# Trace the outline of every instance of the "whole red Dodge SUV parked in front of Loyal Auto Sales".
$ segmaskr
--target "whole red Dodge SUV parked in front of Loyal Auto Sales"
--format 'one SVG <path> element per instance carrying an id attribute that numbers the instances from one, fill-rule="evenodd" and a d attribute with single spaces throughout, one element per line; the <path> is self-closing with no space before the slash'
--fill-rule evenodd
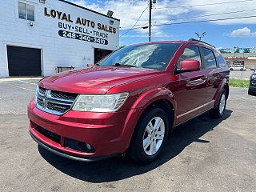
<path id="1" fill-rule="evenodd" d="M 126 46 L 90 68 L 38 82 L 28 106 L 30 134 L 66 158 L 127 154 L 151 162 L 174 127 L 206 111 L 222 117 L 229 75 L 222 55 L 205 42 Z"/>

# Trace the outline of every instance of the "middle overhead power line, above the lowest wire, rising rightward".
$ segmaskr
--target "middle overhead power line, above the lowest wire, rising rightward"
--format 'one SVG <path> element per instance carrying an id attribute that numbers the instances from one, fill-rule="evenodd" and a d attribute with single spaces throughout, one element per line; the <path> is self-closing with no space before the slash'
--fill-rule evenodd
<path id="1" fill-rule="evenodd" d="M 252 9 L 252 10 L 256 10 L 256 9 Z M 252 11 L 252 10 L 237 10 L 237 11 L 231 11 L 231 12 L 219 13 L 219 14 L 192 14 L 192 15 L 190 15 L 190 17 L 186 17 L 186 18 L 203 18 L 203 17 L 209 17 L 209 16 L 214 16 L 214 15 L 220 15 L 220 14 L 237 14 L 237 13 L 242 13 L 242 12 L 247 12 L 247 11 Z M 170 19 L 166 23 L 169 23 L 171 21 L 186 19 L 186 18 L 174 18 L 174 19 Z M 154 21 L 154 22 L 158 22 L 158 21 Z M 166 24 L 166 23 L 164 23 L 164 24 Z M 148 24 L 148 22 L 146 22 L 144 24 L 135 25 L 135 26 L 145 26 L 146 24 Z M 162 24 L 162 23 L 160 23 L 160 24 Z M 131 27 L 131 26 L 123 26 L 120 28 L 121 28 L 121 30 L 128 30 L 128 29 L 124 29 L 124 28 L 128 28 L 128 27 Z"/>

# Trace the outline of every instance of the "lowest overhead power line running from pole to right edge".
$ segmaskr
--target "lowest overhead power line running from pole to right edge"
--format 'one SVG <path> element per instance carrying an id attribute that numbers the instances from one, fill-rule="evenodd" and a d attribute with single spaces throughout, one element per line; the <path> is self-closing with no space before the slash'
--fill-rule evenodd
<path id="1" fill-rule="evenodd" d="M 234 19 L 240 19 L 240 18 L 256 18 L 256 15 L 236 17 L 236 18 L 217 18 L 217 19 L 191 21 L 191 22 L 172 22 L 172 23 L 156 24 L 156 25 L 152 25 L 152 26 L 170 26 L 170 25 L 189 24 L 189 23 L 198 23 L 198 22 L 217 22 L 217 21 L 234 20 Z M 138 29 L 142 29 L 142 27 L 135 27 L 132 30 L 138 30 Z M 131 30 L 131 29 L 129 29 L 129 30 Z"/>

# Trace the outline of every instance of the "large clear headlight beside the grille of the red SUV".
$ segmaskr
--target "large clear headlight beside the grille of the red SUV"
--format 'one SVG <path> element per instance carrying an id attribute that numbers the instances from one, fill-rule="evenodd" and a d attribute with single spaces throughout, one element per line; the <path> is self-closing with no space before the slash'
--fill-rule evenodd
<path id="1" fill-rule="evenodd" d="M 128 93 L 120 94 L 80 94 L 72 110 L 91 112 L 113 112 L 126 101 Z"/>

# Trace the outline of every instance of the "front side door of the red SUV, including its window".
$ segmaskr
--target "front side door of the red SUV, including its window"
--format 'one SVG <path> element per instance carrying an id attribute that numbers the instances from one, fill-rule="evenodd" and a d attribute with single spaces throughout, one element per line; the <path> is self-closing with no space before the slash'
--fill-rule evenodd
<path id="1" fill-rule="evenodd" d="M 196 59 L 201 63 L 201 70 L 177 74 L 178 81 L 174 82 L 172 91 L 177 102 L 176 124 L 185 122 L 205 110 L 207 99 L 206 71 L 202 70 L 202 56 L 198 46 L 188 46 L 176 64 L 179 69 L 184 59 Z"/>

